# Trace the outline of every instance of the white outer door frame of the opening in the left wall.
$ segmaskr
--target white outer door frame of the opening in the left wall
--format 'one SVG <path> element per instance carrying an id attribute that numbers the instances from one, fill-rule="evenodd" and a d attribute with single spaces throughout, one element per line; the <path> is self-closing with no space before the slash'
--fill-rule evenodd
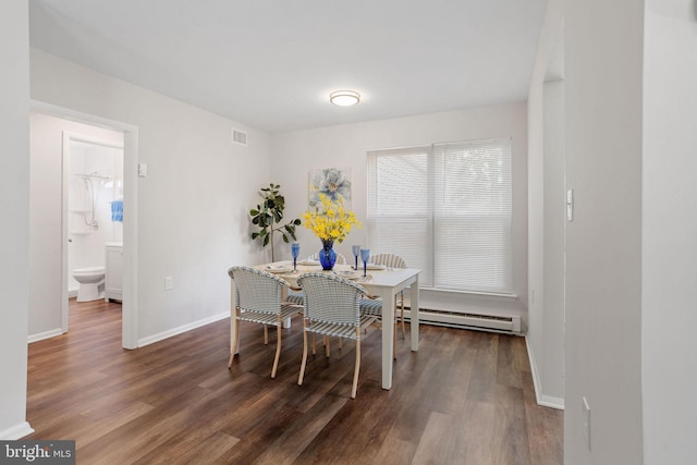
<path id="1" fill-rule="evenodd" d="M 123 348 L 138 347 L 138 126 L 121 121 L 109 120 L 94 114 L 83 113 L 69 108 L 30 100 L 30 110 L 91 126 L 123 132 L 123 301 L 121 321 L 121 344 Z M 65 140 L 65 138 L 63 139 Z M 63 188 L 63 191 L 65 191 Z M 63 196 L 66 196 L 64 192 Z M 63 235 L 63 268 L 68 267 L 68 235 L 65 221 Z M 68 276 L 62 282 L 61 327 L 68 329 Z M 64 297 L 64 298 L 63 298 Z M 63 320 L 63 318 L 65 318 Z"/>

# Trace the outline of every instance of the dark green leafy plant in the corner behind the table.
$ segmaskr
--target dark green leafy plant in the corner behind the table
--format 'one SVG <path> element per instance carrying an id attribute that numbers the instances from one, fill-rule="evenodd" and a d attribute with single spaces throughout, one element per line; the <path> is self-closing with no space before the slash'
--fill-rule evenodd
<path id="1" fill-rule="evenodd" d="M 252 223 L 259 228 L 259 231 L 252 233 L 252 240 L 261 240 L 262 246 L 271 244 L 271 261 L 276 261 L 273 253 L 273 233 L 282 234 L 283 242 L 289 243 L 289 236 L 295 240 L 295 227 L 301 224 L 299 218 L 283 222 L 283 209 L 285 208 L 285 197 L 280 194 L 281 186 L 278 184 L 269 184 L 268 187 L 261 187 L 261 197 L 264 201 L 256 208 L 249 210 Z"/>

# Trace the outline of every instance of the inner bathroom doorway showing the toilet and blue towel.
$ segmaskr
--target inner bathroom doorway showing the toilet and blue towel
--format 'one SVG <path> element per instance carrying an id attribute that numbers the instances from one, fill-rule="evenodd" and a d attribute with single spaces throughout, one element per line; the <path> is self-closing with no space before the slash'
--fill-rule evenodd
<path id="1" fill-rule="evenodd" d="M 119 139 L 63 132 L 61 331 L 69 330 L 70 305 L 122 292 L 123 133 Z M 117 262 L 118 261 L 118 262 Z M 96 283 L 78 283 L 75 270 Z M 89 271 L 91 270 L 91 272 Z M 84 279 L 84 278 L 81 278 Z M 109 285 L 109 292 L 106 292 Z M 118 291 L 118 294 L 117 292 Z"/>

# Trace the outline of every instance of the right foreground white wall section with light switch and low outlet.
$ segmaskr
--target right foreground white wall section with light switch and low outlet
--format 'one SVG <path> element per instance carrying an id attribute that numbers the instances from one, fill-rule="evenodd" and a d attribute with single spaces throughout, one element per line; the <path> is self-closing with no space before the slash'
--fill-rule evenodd
<path id="1" fill-rule="evenodd" d="M 641 464 L 644 4 L 567 0 L 564 8 L 566 185 L 575 189 L 566 227 L 564 463 Z"/>

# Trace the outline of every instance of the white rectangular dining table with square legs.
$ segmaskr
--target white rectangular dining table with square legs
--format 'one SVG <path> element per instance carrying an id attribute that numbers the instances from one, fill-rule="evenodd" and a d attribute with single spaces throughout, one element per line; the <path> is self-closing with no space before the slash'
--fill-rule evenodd
<path id="1" fill-rule="evenodd" d="M 265 264 L 259 265 L 256 268 L 265 270 L 265 271 L 273 271 L 277 276 L 280 276 L 283 279 L 286 279 L 291 285 L 294 285 L 293 277 L 299 277 L 302 273 L 306 272 L 315 272 L 321 271 L 320 267 L 317 266 L 297 266 L 297 273 L 279 273 L 279 269 L 284 267 L 288 262 L 276 262 L 276 264 Z M 292 269 L 292 265 L 290 266 Z M 348 265 L 337 265 L 334 266 L 334 271 L 340 276 L 344 274 L 342 272 L 352 270 L 352 267 Z M 384 269 L 369 269 L 367 271 L 368 279 L 363 279 L 358 277 L 355 279 L 355 282 L 364 286 L 371 297 L 379 297 L 382 299 L 382 320 L 383 321 L 393 321 L 394 313 L 396 311 L 394 307 L 394 296 L 400 293 L 400 291 L 406 290 L 408 287 L 408 296 L 409 296 L 409 320 L 411 320 L 411 342 L 412 342 L 412 351 L 418 351 L 418 276 L 421 272 L 419 269 L 415 268 L 384 268 Z M 357 273 L 362 274 L 363 270 L 360 269 Z M 230 346 L 232 347 L 232 338 L 235 333 L 235 328 L 237 325 L 236 319 L 234 318 L 234 306 L 235 306 L 235 283 L 234 280 L 230 280 L 230 295 L 231 295 L 231 307 L 230 307 Z M 393 366 L 393 338 L 394 338 L 394 325 L 382 325 L 382 389 L 391 389 L 392 388 L 392 366 Z"/>

